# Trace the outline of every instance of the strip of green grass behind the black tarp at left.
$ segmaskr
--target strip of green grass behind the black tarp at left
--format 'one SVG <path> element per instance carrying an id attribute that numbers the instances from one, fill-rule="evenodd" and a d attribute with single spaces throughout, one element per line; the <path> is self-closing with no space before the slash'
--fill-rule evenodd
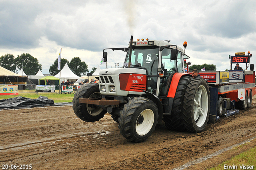
<path id="1" fill-rule="evenodd" d="M 39 96 L 46 96 L 48 99 L 54 100 L 54 103 L 60 103 L 60 102 L 72 102 L 74 98 L 74 93 L 71 94 L 56 94 L 56 93 L 20 93 L 18 95 L 1 95 L 0 100 L 2 99 L 8 99 L 8 98 L 14 98 L 17 96 L 22 96 L 26 98 L 31 99 L 37 99 Z"/>

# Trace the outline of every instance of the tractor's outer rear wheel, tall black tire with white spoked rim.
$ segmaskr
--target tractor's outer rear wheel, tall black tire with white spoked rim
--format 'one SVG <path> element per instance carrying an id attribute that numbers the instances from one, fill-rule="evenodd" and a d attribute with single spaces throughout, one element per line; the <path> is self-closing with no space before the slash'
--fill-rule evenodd
<path id="1" fill-rule="evenodd" d="M 193 79 L 188 83 L 183 100 L 183 123 L 188 132 L 205 129 L 210 113 L 210 92 L 204 79 Z"/>

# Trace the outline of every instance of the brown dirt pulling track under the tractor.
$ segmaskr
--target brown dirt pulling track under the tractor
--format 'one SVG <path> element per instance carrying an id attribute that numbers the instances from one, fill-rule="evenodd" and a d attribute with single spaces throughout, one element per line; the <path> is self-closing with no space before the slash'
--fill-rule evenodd
<path id="1" fill-rule="evenodd" d="M 0 111 L 0 163 L 31 164 L 34 170 L 168 170 L 256 136 L 256 98 L 249 110 L 220 118 L 198 134 L 156 127 L 142 143 L 131 143 L 106 114 L 83 122 L 72 106 Z M 256 140 L 188 167 L 206 169 L 256 146 Z"/>

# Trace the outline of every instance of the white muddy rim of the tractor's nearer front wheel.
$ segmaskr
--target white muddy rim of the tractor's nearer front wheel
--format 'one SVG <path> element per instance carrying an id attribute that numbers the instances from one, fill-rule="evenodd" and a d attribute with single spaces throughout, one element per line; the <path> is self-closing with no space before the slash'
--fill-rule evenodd
<path id="1" fill-rule="evenodd" d="M 154 124 L 154 112 L 151 109 L 143 110 L 136 120 L 136 132 L 143 136 L 147 134 Z"/>

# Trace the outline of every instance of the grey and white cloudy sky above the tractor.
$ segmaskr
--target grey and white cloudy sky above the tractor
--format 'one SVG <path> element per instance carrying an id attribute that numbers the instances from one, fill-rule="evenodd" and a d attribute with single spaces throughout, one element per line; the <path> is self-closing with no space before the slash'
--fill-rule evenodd
<path id="1" fill-rule="evenodd" d="M 44 74 L 60 48 L 62 58 L 79 57 L 91 70 L 103 48 L 127 47 L 131 34 L 179 46 L 187 41 L 192 64 L 226 70 L 228 55 L 250 51 L 256 66 L 256 1 L 0 0 L 0 56 L 29 53 Z M 111 52 L 108 68 L 124 56 Z"/>

